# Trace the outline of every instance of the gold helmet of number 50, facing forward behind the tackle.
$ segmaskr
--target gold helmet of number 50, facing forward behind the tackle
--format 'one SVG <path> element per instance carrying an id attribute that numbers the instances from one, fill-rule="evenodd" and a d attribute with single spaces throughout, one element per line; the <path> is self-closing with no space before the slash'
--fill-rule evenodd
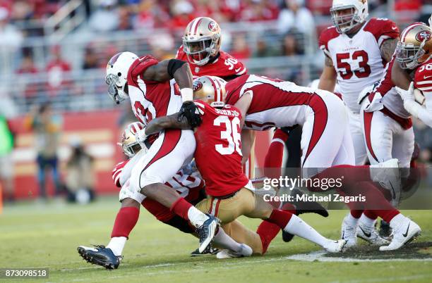
<path id="1" fill-rule="evenodd" d="M 189 61 L 205 65 L 220 49 L 220 27 L 208 17 L 195 18 L 188 23 L 183 36 L 183 49 Z"/>

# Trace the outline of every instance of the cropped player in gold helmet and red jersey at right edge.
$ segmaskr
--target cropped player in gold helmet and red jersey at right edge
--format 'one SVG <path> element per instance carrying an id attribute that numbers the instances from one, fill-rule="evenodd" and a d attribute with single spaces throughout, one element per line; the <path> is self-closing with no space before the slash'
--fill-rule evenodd
<path id="1" fill-rule="evenodd" d="M 423 23 L 414 23 L 407 27 L 397 44 L 396 60 L 398 67 L 414 74 L 413 82 L 407 80 L 409 87 L 403 85 L 403 80 L 395 82 L 397 92 L 403 99 L 403 105 L 415 118 L 419 118 L 432 127 L 432 29 Z M 396 65 L 396 64 L 395 64 Z M 395 68 L 397 71 L 397 67 Z M 407 90 L 405 90 L 407 89 Z M 415 89 L 415 91 L 414 91 Z M 415 95 L 416 92 L 417 96 Z M 416 97 L 424 97 L 419 101 Z M 421 103 L 419 103 L 421 102 Z"/>

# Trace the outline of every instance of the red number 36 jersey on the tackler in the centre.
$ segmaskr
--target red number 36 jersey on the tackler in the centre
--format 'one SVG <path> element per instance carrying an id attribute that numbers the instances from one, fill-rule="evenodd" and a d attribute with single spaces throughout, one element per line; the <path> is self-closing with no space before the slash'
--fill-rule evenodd
<path id="1" fill-rule="evenodd" d="M 245 187 L 249 180 L 241 165 L 239 109 L 212 108 L 194 101 L 203 111 L 203 124 L 196 129 L 195 161 L 210 196 L 226 196 Z"/>

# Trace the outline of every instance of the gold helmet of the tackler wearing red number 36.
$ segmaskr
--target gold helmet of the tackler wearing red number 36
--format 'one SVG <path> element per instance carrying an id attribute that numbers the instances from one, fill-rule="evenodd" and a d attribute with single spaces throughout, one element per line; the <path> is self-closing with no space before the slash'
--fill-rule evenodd
<path id="1" fill-rule="evenodd" d="M 212 107 L 224 107 L 225 82 L 220 77 L 205 75 L 193 81 L 193 99 L 200 99 Z"/>

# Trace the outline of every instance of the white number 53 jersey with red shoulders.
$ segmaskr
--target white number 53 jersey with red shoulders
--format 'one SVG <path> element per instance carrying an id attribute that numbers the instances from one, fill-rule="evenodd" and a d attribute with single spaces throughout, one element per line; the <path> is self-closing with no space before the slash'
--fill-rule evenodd
<path id="1" fill-rule="evenodd" d="M 385 61 L 380 46 L 387 39 L 399 37 L 395 23 L 385 18 L 371 18 L 350 38 L 328 27 L 320 34 L 319 46 L 332 59 L 342 100 L 354 113 L 359 113 L 357 97 L 384 74 Z"/>

